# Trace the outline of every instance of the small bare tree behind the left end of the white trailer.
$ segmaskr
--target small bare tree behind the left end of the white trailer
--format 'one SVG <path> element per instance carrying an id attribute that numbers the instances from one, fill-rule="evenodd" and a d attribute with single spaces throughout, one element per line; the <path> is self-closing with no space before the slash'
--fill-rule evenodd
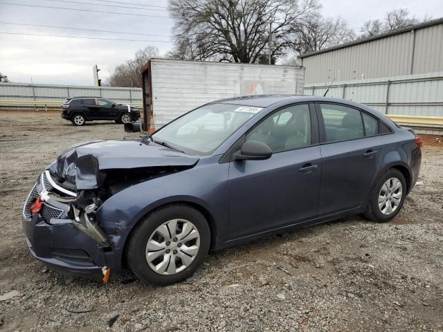
<path id="1" fill-rule="evenodd" d="M 141 88 L 141 71 L 147 60 L 152 57 L 160 57 L 159 48 L 147 46 L 138 50 L 134 59 L 130 59 L 124 64 L 112 68 L 108 84 L 111 86 L 134 86 Z"/>

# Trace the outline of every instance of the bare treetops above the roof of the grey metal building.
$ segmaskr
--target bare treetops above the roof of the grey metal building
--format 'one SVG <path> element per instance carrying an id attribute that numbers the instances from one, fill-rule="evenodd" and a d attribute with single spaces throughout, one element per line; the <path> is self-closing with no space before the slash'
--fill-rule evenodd
<path id="1" fill-rule="evenodd" d="M 374 19 L 365 21 L 361 26 L 361 37 L 371 37 L 379 35 L 380 33 L 387 33 L 388 31 L 397 30 L 399 28 L 405 28 L 406 26 L 412 26 L 413 24 L 419 24 L 420 21 L 429 21 L 431 17 L 425 16 L 422 20 L 417 17 L 409 16 L 409 11 L 406 8 L 399 8 L 386 12 L 383 20 Z"/>

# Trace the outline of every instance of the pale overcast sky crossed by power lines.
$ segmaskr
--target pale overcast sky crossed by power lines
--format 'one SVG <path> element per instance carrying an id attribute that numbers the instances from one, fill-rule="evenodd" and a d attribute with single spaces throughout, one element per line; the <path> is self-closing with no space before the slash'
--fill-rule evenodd
<path id="1" fill-rule="evenodd" d="M 381 19 L 387 11 L 397 8 L 407 8 L 418 18 L 425 15 L 433 19 L 443 17 L 442 0 L 320 0 L 320 3 L 324 16 L 341 16 L 356 32 L 364 21 Z M 97 64 L 101 69 L 100 78 L 106 81 L 111 69 L 132 58 L 136 50 L 154 45 L 161 53 L 166 53 L 172 48 L 174 22 L 165 8 L 167 5 L 167 0 L 0 0 L 0 73 L 8 75 L 12 82 L 30 83 L 32 77 L 34 83 L 93 85 L 92 68 Z M 109 30 L 113 33 L 17 24 Z M 21 33 L 34 35 L 15 35 Z"/>

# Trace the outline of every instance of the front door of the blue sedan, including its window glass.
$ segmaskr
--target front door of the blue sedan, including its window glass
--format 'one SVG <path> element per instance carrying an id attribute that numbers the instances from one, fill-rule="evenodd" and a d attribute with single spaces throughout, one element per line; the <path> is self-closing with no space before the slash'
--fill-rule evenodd
<path id="1" fill-rule="evenodd" d="M 230 239 L 314 218 L 322 167 L 314 107 L 295 104 L 275 111 L 244 140 L 266 143 L 273 155 L 230 162 Z"/>

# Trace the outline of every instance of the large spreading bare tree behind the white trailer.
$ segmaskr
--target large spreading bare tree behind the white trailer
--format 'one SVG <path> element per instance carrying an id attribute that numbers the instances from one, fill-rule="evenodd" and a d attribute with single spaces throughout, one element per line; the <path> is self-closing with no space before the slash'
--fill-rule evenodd
<path id="1" fill-rule="evenodd" d="M 176 49 L 193 59 L 257 63 L 291 48 L 293 26 L 314 15 L 317 0 L 170 0 Z"/>

